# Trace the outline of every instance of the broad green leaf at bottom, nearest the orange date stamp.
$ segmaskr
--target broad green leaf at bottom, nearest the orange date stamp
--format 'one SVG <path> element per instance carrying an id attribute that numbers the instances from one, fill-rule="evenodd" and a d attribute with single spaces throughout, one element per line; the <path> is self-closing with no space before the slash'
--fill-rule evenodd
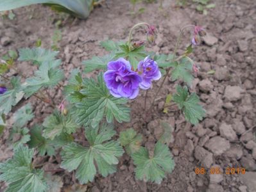
<path id="1" fill-rule="evenodd" d="M 154 156 L 149 157 L 145 147 L 132 154 L 133 163 L 136 165 L 135 177 L 139 180 L 151 181 L 160 184 L 165 173 L 171 173 L 175 167 L 171 152 L 167 145 L 157 142 Z"/>

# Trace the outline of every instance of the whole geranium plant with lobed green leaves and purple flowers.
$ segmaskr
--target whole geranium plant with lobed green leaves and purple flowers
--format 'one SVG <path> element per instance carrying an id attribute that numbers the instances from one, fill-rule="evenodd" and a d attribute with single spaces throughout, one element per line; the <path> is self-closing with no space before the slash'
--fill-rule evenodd
<path id="1" fill-rule="evenodd" d="M 35 164 L 33 156 L 56 156 L 58 148 L 61 148 L 62 163 L 60 169 L 53 172 L 74 170 L 80 184 L 92 182 L 96 173 L 107 177 L 116 172 L 119 157 L 124 152 L 133 159 L 136 179 L 160 183 L 166 173 L 173 171 L 175 162 L 168 147 L 173 128 L 169 124 L 161 123 L 164 134 L 154 148 L 146 148 L 142 147 L 142 135 L 132 127 L 120 132 L 119 138 L 114 139 L 117 134 L 115 122 L 130 122 L 128 100 L 136 99 L 143 90 L 149 92 L 154 81 L 162 81 L 154 90 L 151 106 L 146 109 L 152 111 L 154 101 L 169 75 L 173 81 L 180 79 L 187 86 L 176 86 L 176 93 L 172 99 L 167 97 L 168 102 L 172 100 L 176 103 L 191 124 L 198 124 L 202 120 L 205 110 L 199 104 L 199 97 L 189 92 L 192 74 L 198 72 L 189 55 L 194 45 L 199 44 L 200 36 L 205 35 L 205 30 L 198 26 L 185 26 L 180 31 L 175 51 L 159 55 L 147 52 L 146 42 L 132 41 L 133 32 L 141 27 L 146 29 L 147 42 L 153 44 L 157 29 L 145 22 L 133 26 L 128 42 L 101 42 L 110 54 L 94 56 L 91 60 L 83 61 L 83 65 L 85 73 L 93 70 L 102 72 L 96 79 L 84 78 L 80 70 L 74 69 L 69 83 L 63 88 L 64 96 L 59 104 L 46 96 L 46 89 L 61 88 L 60 82 L 64 79 L 64 72 L 60 69 L 62 61 L 56 59 L 57 51 L 40 47 L 25 48 L 19 49 L 19 58 L 15 52 L 4 56 L 0 68 L 0 130 L 6 126 L 5 116 L 12 107 L 24 103 L 25 99 L 36 97 L 53 108 L 42 125 L 28 125 L 33 118 L 38 118 L 33 114 L 30 103 L 14 113 L 9 140 L 14 148 L 14 156 L 0 164 L 0 179 L 9 184 L 6 191 L 50 190 L 56 178 L 46 174 L 52 170 L 45 170 L 44 164 Z M 187 28 L 193 30 L 191 44 L 183 54 L 177 56 L 183 31 Z M 31 65 L 36 65 L 34 76 L 21 74 L 15 67 L 17 61 L 30 61 Z M 9 79 L 6 73 L 11 68 L 17 70 L 19 76 Z M 76 132 L 84 133 L 82 136 L 80 134 L 82 139 L 75 137 Z M 61 184 L 55 186 L 62 187 Z"/>

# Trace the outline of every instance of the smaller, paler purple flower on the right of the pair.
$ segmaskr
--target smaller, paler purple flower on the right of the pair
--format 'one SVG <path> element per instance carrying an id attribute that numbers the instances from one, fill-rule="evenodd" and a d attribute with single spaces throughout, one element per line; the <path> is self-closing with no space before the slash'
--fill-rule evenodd
<path id="1" fill-rule="evenodd" d="M 149 58 L 149 56 L 139 62 L 138 73 L 142 77 L 142 82 L 139 86 L 143 90 L 148 90 L 151 86 L 151 81 L 158 80 L 162 76 L 158 69 L 157 62 Z"/>

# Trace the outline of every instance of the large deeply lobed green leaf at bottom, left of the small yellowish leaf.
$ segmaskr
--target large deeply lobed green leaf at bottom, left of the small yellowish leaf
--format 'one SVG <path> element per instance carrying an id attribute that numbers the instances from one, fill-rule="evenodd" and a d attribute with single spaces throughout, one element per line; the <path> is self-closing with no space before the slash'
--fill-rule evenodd
<path id="1" fill-rule="evenodd" d="M 61 167 L 69 172 L 76 170 L 76 178 L 81 184 L 92 182 L 98 172 L 107 177 L 114 173 L 115 165 L 118 163 L 117 157 L 122 156 L 123 148 L 117 141 L 108 141 L 114 136 L 114 127 L 103 125 L 100 128 L 87 127 L 85 137 L 90 143 L 90 147 L 83 147 L 77 143 L 65 145 L 62 150 Z"/>

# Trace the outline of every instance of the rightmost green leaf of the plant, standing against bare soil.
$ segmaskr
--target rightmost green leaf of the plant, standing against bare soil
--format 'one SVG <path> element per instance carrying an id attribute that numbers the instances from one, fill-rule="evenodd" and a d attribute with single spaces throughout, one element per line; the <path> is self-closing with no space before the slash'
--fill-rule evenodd
<path id="1" fill-rule="evenodd" d="M 187 87 L 178 85 L 176 87 L 177 93 L 173 95 L 173 101 L 178 104 L 178 107 L 182 109 L 185 119 L 191 122 L 191 124 L 198 124 L 199 120 L 202 120 L 205 116 L 205 109 L 200 104 L 200 99 L 196 93 L 189 95 Z"/>

